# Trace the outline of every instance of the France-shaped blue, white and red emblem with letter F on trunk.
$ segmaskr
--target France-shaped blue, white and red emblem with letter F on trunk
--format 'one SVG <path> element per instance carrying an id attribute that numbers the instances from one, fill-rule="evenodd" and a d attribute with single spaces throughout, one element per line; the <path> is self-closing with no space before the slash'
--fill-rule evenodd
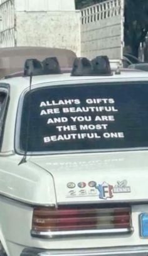
<path id="1" fill-rule="evenodd" d="M 110 184 L 107 184 L 107 182 L 98 184 L 98 186 L 96 186 L 96 189 L 98 189 L 100 199 L 107 199 L 113 197 L 114 187 Z"/>

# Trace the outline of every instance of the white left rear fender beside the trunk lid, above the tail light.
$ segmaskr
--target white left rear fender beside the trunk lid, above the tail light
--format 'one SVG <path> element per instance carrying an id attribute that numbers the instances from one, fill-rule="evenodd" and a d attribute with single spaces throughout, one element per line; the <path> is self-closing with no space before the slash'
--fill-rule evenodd
<path id="1" fill-rule="evenodd" d="M 6 157 L 1 157 L 1 195 L 26 204 L 55 205 L 53 177 L 48 172 L 31 162 L 19 165 L 22 157 L 12 155 L 7 158 L 6 165 Z"/>

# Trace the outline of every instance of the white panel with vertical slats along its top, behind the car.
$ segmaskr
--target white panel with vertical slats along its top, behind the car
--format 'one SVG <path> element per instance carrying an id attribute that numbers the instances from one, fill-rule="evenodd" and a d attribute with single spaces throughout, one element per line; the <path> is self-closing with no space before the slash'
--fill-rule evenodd
<path id="1" fill-rule="evenodd" d="M 82 10 L 81 55 L 122 58 L 124 0 L 108 0 Z"/>

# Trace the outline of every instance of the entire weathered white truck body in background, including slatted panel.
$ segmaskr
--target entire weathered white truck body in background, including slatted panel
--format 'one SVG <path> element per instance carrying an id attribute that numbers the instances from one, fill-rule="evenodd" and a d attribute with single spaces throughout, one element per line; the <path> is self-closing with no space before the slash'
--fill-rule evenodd
<path id="1" fill-rule="evenodd" d="M 68 48 L 88 58 L 122 58 L 124 0 L 75 11 L 75 0 L 0 0 L 0 47 Z"/>

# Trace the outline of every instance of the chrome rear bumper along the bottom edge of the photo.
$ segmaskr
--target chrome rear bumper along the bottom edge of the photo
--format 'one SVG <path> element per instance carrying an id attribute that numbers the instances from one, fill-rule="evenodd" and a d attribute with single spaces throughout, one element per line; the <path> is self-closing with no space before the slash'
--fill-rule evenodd
<path id="1" fill-rule="evenodd" d="M 25 248 L 21 256 L 148 256 L 148 245 L 131 246 L 131 247 L 107 247 L 107 248 L 90 248 L 78 250 L 41 250 L 35 248 Z"/>

